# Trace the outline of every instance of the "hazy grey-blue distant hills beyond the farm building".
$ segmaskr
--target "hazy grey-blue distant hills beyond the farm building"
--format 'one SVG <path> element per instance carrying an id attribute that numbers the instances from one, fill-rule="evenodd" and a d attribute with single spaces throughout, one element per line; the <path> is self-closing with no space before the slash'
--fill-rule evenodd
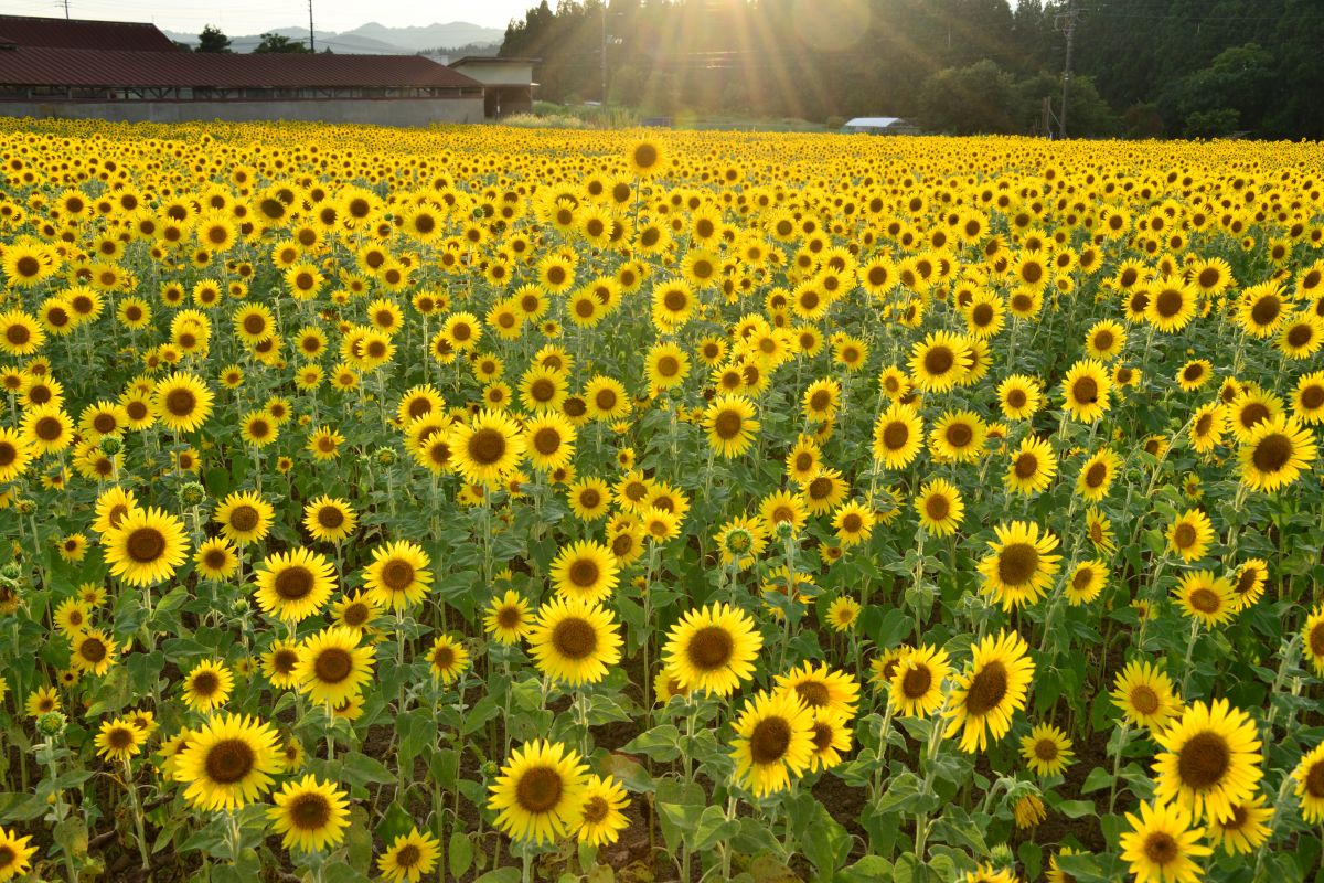
<path id="1" fill-rule="evenodd" d="M 306 41 L 308 37 L 307 28 L 275 28 L 273 33 L 291 40 Z M 451 46 L 463 48 L 466 52 L 461 54 L 479 54 L 478 52 L 473 52 L 473 49 L 479 46 L 500 46 L 506 32 L 496 28 L 483 28 L 467 21 L 410 28 L 387 28 L 385 25 L 369 21 L 354 30 L 318 30 L 315 34 L 319 52 L 330 48 L 331 52 L 350 56 L 413 56 L 420 52 L 436 52 L 438 48 L 445 53 Z M 166 36 L 189 46 L 197 45 L 197 34 L 167 30 Z M 229 37 L 234 52 L 253 52 L 262 42 L 261 34 L 229 34 Z"/>

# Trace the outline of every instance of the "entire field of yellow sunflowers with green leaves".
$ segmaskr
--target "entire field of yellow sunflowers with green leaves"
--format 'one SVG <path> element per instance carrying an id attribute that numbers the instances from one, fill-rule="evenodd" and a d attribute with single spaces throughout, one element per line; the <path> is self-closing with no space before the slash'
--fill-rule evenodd
<path id="1" fill-rule="evenodd" d="M 1324 880 L 1319 146 L 0 159 L 0 882 Z"/>

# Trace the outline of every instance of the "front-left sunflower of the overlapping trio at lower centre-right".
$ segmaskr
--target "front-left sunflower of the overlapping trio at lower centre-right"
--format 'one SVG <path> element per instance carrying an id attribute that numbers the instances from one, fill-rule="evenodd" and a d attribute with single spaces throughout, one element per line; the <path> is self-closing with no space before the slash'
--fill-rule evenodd
<path id="1" fill-rule="evenodd" d="M 748 699 L 735 723 L 735 780 L 764 797 L 786 790 L 814 757 L 814 714 L 794 692 Z"/>

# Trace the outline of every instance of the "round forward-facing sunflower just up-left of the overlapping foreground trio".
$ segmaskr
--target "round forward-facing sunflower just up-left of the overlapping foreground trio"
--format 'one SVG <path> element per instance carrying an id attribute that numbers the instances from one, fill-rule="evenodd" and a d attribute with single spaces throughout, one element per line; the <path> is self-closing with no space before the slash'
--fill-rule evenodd
<path id="1" fill-rule="evenodd" d="M 686 691 L 730 696 L 753 676 L 763 635 L 749 614 L 727 604 L 690 610 L 667 635 L 662 658 Z"/>

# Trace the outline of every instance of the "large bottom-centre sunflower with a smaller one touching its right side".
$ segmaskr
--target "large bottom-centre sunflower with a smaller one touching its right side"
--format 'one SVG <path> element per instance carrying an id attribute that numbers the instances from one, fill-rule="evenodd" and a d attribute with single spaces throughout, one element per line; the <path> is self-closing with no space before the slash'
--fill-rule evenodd
<path id="1" fill-rule="evenodd" d="M 576 830 L 588 785 L 577 752 L 542 739 L 511 752 L 490 786 L 496 826 L 516 841 L 556 841 Z"/>

